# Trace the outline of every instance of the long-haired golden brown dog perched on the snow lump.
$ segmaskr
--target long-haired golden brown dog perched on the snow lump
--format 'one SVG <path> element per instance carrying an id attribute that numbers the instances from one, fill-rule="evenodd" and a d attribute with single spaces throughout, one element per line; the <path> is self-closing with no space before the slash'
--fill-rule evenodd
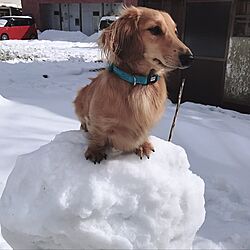
<path id="1" fill-rule="evenodd" d="M 167 97 L 163 74 L 192 60 L 176 33 L 167 13 L 143 7 L 124 9 L 104 30 L 99 44 L 110 64 L 131 76 L 157 74 L 160 79 L 134 85 L 106 69 L 79 91 L 74 104 L 82 128 L 89 132 L 86 159 L 100 163 L 108 146 L 149 158 L 154 148 L 148 132 L 160 119 Z"/>

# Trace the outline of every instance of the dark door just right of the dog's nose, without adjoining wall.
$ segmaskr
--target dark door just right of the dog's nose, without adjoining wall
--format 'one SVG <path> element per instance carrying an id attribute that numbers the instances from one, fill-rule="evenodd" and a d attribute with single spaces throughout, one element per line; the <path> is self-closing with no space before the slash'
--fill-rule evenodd
<path id="1" fill-rule="evenodd" d="M 232 1 L 186 1 L 184 42 L 195 60 L 184 73 L 183 101 L 222 104 L 231 10 Z"/>

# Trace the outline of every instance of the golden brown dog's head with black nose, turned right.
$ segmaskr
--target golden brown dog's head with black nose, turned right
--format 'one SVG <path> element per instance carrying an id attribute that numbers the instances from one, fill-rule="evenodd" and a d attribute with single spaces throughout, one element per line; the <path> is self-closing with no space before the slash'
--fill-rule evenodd
<path id="1" fill-rule="evenodd" d="M 193 59 L 170 15 L 144 7 L 125 8 L 99 44 L 109 62 L 145 61 L 155 70 L 186 68 Z"/>

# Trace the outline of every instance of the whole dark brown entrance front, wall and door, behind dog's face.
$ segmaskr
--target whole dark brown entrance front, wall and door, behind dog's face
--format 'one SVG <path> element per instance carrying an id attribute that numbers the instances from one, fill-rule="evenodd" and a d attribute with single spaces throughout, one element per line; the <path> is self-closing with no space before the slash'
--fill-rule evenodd
<path id="1" fill-rule="evenodd" d="M 233 0 L 141 0 L 162 9 L 177 23 L 180 38 L 195 56 L 192 67 L 168 77 L 169 97 L 177 101 L 181 78 L 186 78 L 183 101 L 221 106 L 233 19 Z"/>

